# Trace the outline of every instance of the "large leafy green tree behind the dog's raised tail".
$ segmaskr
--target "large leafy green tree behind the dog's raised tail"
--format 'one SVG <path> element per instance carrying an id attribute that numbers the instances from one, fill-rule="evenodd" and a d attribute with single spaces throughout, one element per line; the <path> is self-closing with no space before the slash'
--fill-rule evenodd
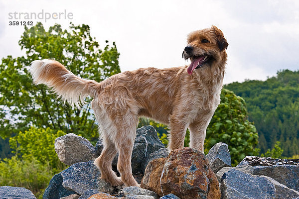
<path id="1" fill-rule="evenodd" d="M 37 59 L 54 59 L 81 78 L 100 82 L 120 72 L 116 45 L 106 43 L 101 50 L 84 24 L 71 23 L 68 30 L 55 24 L 48 31 L 41 23 L 25 26 L 19 45 L 26 56 L 7 56 L 0 64 L 0 136 L 10 137 L 35 125 L 73 132 L 96 142 L 98 133 L 90 103 L 82 109 L 61 104 L 46 86 L 32 85 L 28 67 Z"/>

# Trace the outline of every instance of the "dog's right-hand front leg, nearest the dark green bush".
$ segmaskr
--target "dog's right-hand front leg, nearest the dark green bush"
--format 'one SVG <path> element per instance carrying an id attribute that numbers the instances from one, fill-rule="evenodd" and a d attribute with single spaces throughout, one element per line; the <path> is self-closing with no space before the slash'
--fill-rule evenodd
<path id="1" fill-rule="evenodd" d="M 210 123 L 213 113 L 208 113 L 189 125 L 190 131 L 190 148 L 203 152 L 203 144 L 206 136 L 206 129 Z"/>

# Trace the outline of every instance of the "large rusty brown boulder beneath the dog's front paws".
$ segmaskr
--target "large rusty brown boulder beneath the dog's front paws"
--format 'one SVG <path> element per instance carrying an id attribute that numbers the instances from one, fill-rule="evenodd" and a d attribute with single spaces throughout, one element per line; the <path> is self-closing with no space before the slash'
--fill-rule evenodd
<path id="1" fill-rule="evenodd" d="M 170 152 L 167 158 L 152 160 L 141 187 L 159 196 L 174 194 L 181 199 L 220 199 L 219 183 L 207 158 L 187 147 Z"/>

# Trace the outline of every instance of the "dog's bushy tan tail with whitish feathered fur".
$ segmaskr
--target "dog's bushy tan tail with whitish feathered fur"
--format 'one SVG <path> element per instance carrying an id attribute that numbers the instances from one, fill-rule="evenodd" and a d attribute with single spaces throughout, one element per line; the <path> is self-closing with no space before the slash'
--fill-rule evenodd
<path id="1" fill-rule="evenodd" d="M 82 79 L 54 60 L 33 61 L 29 71 L 35 85 L 45 84 L 51 87 L 64 102 L 78 108 L 85 103 L 85 97 L 96 97 L 99 93 L 100 83 Z"/>

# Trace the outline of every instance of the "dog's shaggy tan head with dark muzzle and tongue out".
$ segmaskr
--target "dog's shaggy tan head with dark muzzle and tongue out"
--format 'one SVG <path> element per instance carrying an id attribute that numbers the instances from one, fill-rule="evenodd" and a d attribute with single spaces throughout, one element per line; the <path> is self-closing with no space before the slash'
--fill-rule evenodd
<path id="1" fill-rule="evenodd" d="M 228 43 L 222 31 L 216 26 L 191 32 L 187 43 L 182 56 L 186 61 L 191 60 L 187 69 L 189 75 L 194 69 L 212 67 L 220 63 L 223 58 L 226 59 L 225 50 Z"/>

